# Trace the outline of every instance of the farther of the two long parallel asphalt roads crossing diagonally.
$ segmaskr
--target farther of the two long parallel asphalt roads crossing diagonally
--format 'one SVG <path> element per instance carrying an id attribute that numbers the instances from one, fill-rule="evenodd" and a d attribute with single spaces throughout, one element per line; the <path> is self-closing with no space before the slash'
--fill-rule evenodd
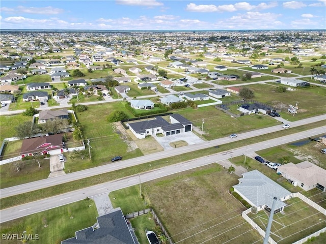
<path id="1" fill-rule="evenodd" d="M 315 117 L 311 117 L 311 118 L 297 120 L 297 121 L 291 122 L 289 124 L 291 125 L 291 127 L 296 127 L 296 126 L 302 126 L 305 124 L 313 123 L 313 122 L 324 120 L 324 119 L 326 119 L 326 115 L 319 115 L 319 116 L 315 116 Z M 94 168 L 90 168 L 90 169 L 86 169 L 86 170 L 80 170 L 77 172 L 68 173 L 65 175 L 57 176 L 57 177 L 33 181 L 33 182 L 30 182 L 27 184 L 1 189 L 0 190 L 0 198 L 5 198 L 5 197 L 25 193 L 25 192 L 35 191 L 38 189 L 63 184 L 63 183 L 73 181 L 73 180 L 78 180 L 78 179 L 82 179 L 82 178 L 86 178 L 86 177 L 90 177 L 90 176 L 94 176 L 94 175 L 98 175 L 98 174 L 102 174 L 102 173 L 106 173 L 106 172 L 111 172 L 111 171 L 131 167 L 131 166 L 135 166 L 135 165 L 139 165 L 139 164 L 144 164 L 144 163 L 159 160 L 159 159 L 165 159 L 168 157 L 185 154 L 185 153 L 199 150 L 199 149 L 222 145 L 222 144 L 247 139 L 250 137 L 256 137 L 256 136 L 268 134 L 271 132 L 281 131 L 281 130 L 286 130 L 286 129 L 283 129 L 282 124 L 280 123 L 280 125 L 277 125 L 277 126 L 267 127 L 267 128 L 263 128 L 263 129 L 259 129 L 259 130 L 255 130 L 255 131 L 238 134 L 238 137 L 236 137 L 236 138 L 229 138 L 229 137 L 219 138 L 219 139 L 215 139 L 215 140 L 211 140 L 211 141 L 205 141 L 203 143 L 199 143 L 199 144 L 195 144 L 195 145 L 179 147 L 179 148 L 176 148 L 173 150 L 162 151 L 159 153 L 141 156 L 138 158 L 122 160 L 122 161 L 118 161 L 115 163 L 102 165 L 99 167 L 94 167 Z M 320 133 L 325 133 L 325 132 L 326 132 L 326 129 L 324 128 L 323 131 L 321 130 Z M 290 137 L 290 136 L 288 136 L 288 137 Z M 291 138 L 292 138 L 292 136 L 291 136 Z M 279 141 L 279 144 L 284 144 L 284 143 L 286 143 L 286 142 L 283 142 L 282 140 Z M 254 147 L 252 148 L 252 151 L 256 151 L 256 150 L 257 150 L 256 148 L 254 148 Z"/>

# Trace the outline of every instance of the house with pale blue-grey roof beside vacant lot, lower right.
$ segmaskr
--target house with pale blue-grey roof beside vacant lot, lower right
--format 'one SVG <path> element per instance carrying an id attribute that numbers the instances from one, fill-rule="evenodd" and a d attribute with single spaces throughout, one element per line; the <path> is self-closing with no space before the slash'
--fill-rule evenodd
<path id="1" fill-rule="evenodd" d="M 275 212 L 283 211 L 287 205 L 284 201 L 291 196 L 291 192 L 256 169 L 243 173 L 239 184 L 233 186 L 233 189 L 251 206 L 257 207 L 258 211 L 265 209 L 270 212 L 274 197 L 277 198 Z"/>

